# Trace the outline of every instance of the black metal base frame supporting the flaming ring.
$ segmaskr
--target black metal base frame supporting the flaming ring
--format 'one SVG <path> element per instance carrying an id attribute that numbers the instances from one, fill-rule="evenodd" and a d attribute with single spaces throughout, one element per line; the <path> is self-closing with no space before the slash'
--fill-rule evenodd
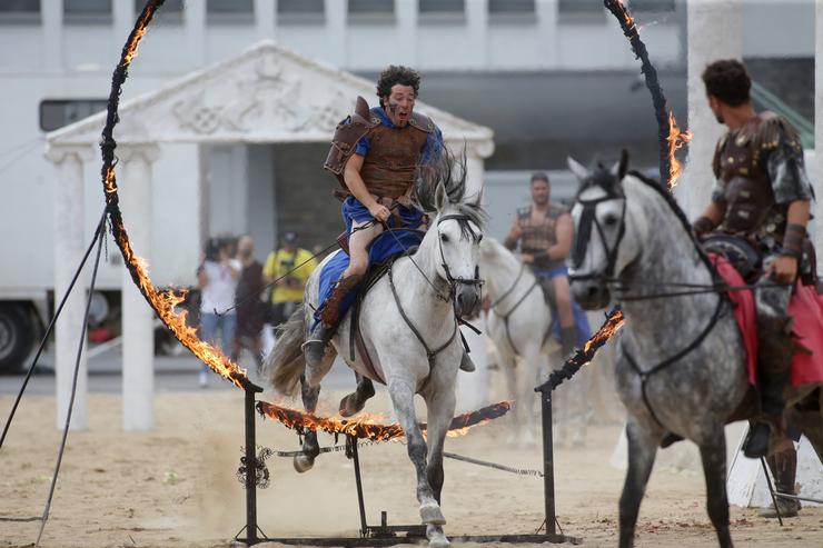
<path id="1" fill-rule="evenodd" d="M 357 485 L 357 505 L 360 514 L 359 537 L 288 537 L 268 538 L 257 526 L 257 487 L 251 464 L 255 459 L 255 393 L 262 391 L 258 387 L 246 389 L 246 526 L 235 536 L 235 541 L 245 546 L 259 542 L 279 542 L 294 546 L 343 546 L 343 547 L 380 547 L 399 544 L 417 544 L 427 541 L 426 526 L 388 525 L 388 515 L 380 512 L 380 525 L 371 526 L 366 520 L 366 505 L 364 501 L 363 477 L 360 475 L 360 457 L 357 451 L 357 438 L 346 438 L 346 456 L 355 465 L 355 482 Z M 583 544 L 583 539 L 556 532 L 556 516 L 554 500 L 554 441 L 552 438 L 552 391 L 549 388 L 539 390 L 543 419 L 543 488 L 546 512 L 546 532 L 527 535 L 449 535 L 452 541 L 457 542 L 551 542 L 551 544 Z M 239 536 L 246 531 L 246 538 Z M 262 537 L 258 537 L 258 531 Z"/>

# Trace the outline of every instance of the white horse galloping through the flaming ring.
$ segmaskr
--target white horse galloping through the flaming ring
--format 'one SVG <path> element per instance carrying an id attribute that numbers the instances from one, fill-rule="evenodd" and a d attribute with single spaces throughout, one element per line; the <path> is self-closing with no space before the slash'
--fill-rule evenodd
<path id="1" fill-rule="evenodd" d="M 408 440 L 408 456 L 417 471 L 417 500 L 429 545 L 443 548 L 449 545 L 443 532 L 446 519 L 439 506 L 443 448 L 454 416 L 455 381 L 464 351 L 457 316 L 472 316 L 479 308 L 477 256 L 484 212 L 479 197 L 476 202 L 464 201 L 465 173 L 458 180 L 453 179 L 450 161 L 425 175 L 435 180 L 419 185 L 417 199 L 425 210 L 435 213 L 430 229 L 417 251 L 397 259 L 361 302 L 359 329 L 374 368 L 364 359 L 360 348 L 351 359 L 351 315 L 344 318 L 331 345 L 358 378 L 364 379 L 357 392 L 344 398 L 341 412 L 349 415 L 363 408 L 365 399 L 374 393 L 368 379 L 387 386 Z M 280 392 L 294 393 L 303 381 L 307 411 L 315 410 L 320 381 L 335 358 L 334 351 L 327 352 L 321 366 L 314 369 L 300 351 L 307 328 L 314 321 L 311 310 L 318 305 L 321 267 L 307 283 L 304 306 L 281 326 L 281 337 L 265 363 L 265 371 Z M 415 393 L 426 402 L 426 439 L 415 417 Z M 308 470 L 318 452 L 316 434 L 307 432 L 304 455 L 296 459 L 295 467 L 299 471 Z"/>

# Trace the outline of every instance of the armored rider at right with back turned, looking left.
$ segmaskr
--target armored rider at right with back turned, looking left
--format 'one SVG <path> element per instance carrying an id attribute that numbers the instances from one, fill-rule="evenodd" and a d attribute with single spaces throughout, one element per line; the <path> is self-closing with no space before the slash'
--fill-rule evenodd
<path id="1" fill-rule="evenodd" d="M 780 116 L 755 112 L 742 62 L 711 63 L 703 82 L 710 108 L 728 131 L 717 142 L 716 185 L 694 230 L 698 237 L 713 231 L 743 237 L 763 257 L 755 289 L 761 412 L 743 447 L 747 457 L 758 458 L 785 406 L 794 353 L 786 309 L 799 273 L 811 270 L 804 242 L 813 190 L 797 133 Z"/>

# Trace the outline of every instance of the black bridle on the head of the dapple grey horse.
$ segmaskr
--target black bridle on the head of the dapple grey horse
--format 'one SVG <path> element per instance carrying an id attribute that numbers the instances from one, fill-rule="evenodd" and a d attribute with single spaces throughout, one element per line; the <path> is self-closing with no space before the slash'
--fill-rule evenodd
<path id="1" fill-rule="evenodd" d="M 591 200 L 579 199 L 579 196 L 585 190 L 595 186 L 603 189 L 606 192 L 606 196 L 594 198 Z M 577 227 L 577 236 L 575 238 L 574 249 L 572 250 L 572 266 L 577 269 L 581 267 L 581 265 L 583 265 L 583 260 L 586 258 L 586 252 L 588 251 L 588 242 L 592 238 L 592 227 L 594 226 L 601 237 L 603 251 L 606 255 L 606 268 L 601 272 L 569 275 L 568 279 L 571 281 L 592 279 L 601 280 L 604 282 L 612 281 L 614 280 L 614 270 L 617 263 L 617 251 L 619 250 L 621 242 L 623 241 L 623 236 L 626 233 L 626 196 L 623 193 L 622 189 L 606 189 L 603 186 L 595 185 L 593 182 L 584 185 L 577 196 L 577 203 L 583 207 L 583 212 L 581 213 L 581 222 Z M 621 209 L 621 220 L 617 231 L 617 238 L 615 239 L 614 245 L 609 248 L 608 243 L 606 242 L 606 235 L 603 229 L 603 225 L 601 225 L 601 221 L 597 219 L 597 216 L 595 213 L 598 205 L 611 200 L 623 200 L 623 208 Z"/>

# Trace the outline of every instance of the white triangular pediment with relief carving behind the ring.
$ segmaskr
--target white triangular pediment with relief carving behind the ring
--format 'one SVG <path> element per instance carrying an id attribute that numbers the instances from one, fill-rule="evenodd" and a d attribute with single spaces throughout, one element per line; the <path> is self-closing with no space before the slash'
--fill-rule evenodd
<path id="1" fill-rule="evenodd" d="M 115 138 L 119 143 L 328 141 L 358 94 L 375 101 L 374 89 L 371 81 L 264 41 L 122 102 Z M 433 118 L 447 141 L 465 141 L 482 157 L 492 153 L 490 129 L 422 102 L 415 109 Z M 97 143 L 105 121 L 100 112 L 49 133 L 48 140 Z"/>

